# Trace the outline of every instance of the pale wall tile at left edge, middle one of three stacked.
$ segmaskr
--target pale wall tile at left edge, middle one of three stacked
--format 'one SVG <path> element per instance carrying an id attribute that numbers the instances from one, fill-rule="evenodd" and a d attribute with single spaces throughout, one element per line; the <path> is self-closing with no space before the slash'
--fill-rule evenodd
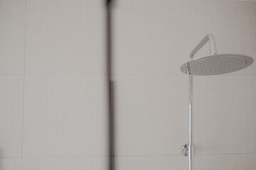
<path id="1" fill-rule="evenodd" d="M 0 157 L 21 157 L 23 76 L 0 76 Z"/>

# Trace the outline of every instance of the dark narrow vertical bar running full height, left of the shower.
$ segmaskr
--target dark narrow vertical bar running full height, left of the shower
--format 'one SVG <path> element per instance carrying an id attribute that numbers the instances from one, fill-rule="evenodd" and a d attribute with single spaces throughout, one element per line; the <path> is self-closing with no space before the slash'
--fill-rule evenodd
<path id="1" fill-rule="evenodd" d="M 109 169 L 114 170 L 114 98 L 112 81 L 112 0 L 106 0 L 106 52 L 109 107 Z"/>

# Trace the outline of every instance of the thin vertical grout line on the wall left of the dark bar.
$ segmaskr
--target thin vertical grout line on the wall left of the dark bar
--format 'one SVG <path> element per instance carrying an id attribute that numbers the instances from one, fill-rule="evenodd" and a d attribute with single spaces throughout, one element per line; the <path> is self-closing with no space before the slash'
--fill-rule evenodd
<path id="1" fill-rule="evenodd" d="M 24 130 L 24 103 L 25 103 L 25 70 L 26 70 L 26 20 L 27 0 L 25 0 L 25 28 L 24 28 L 24 61 L 23 61 L 23 101 L 22 101 L 22 126 L 21 126 L 21 170 L 23 169 L 23 130 Z"/>

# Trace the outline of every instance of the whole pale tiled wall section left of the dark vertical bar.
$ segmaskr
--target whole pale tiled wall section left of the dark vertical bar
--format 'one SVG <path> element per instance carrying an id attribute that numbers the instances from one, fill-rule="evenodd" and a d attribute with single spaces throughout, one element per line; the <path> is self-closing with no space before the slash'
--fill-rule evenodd
<path id="1" fill-rule="evenodd" d="M 104 14 L 0 0 L 0 169 L 108 169 Z"/>

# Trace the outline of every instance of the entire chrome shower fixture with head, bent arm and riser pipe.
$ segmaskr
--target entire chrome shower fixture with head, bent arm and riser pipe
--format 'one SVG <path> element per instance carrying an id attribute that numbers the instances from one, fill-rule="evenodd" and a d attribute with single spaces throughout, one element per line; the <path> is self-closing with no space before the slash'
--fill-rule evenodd
<path id="1" fill-rule="evenodd" d="M 193 59 L 193 55 L 209 41 L 210 56 Z M 217 55 L 213 35 L 206 35 L 189 55 L 189 62 L 181 65 L 181 72 L 188 74 L 188 144 L 183 145 L 181 153 L 188 156 L 188 169 L 193 170 L 193 75 L 216 75 L 235 72 L 252 64 L 252 57 L 246 55 Z"/>

